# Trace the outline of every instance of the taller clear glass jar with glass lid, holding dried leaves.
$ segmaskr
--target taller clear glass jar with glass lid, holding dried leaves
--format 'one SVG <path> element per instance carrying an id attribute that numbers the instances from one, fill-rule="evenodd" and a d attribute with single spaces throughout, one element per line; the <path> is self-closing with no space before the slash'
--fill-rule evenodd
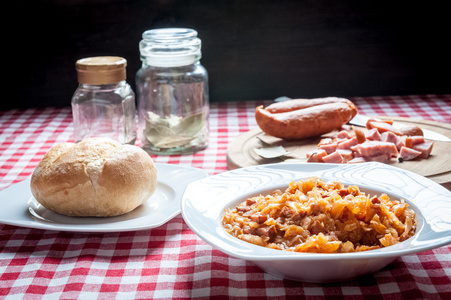
<path id="1" fill-rule="evenodd" d="M 208 74 L 192 29 L 145 31 L 136 74 L 138 137 L 154 154 L 190 154 L 208 144 Z"/>

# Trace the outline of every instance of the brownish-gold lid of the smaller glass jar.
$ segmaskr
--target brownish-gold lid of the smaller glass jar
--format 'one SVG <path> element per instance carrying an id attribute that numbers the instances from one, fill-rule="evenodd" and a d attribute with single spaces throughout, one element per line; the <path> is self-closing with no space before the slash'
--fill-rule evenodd
<path id="1" fill-rule="evenodd" d="M 111 84 L 125 80 L 127 60 L 118 56 L 79 59 L 75 64 L 79 83 Z"/>

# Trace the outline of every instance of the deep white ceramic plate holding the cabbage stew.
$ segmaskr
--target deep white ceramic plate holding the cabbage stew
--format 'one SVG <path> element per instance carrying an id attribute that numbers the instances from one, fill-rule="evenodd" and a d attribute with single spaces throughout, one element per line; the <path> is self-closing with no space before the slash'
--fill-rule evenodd
<path id="1" fill-rule="evenodd" d="M 337 254 L 293 253 L 256 246 L 229 235 L 222 227 L 224 208 L 248 197 L 284 190 L 291 181 L 318 176 L 358 185 L 371 195 L 403 198 L 416 212 L 416 234 L 397 245 Z M 401 255 L 451 243 L 451 192 L 420 175 L 371 162 L 363 164 L 279 163 L 237 169 L 188 185 L 182 216 L 203 240 L 224 253 L 251 261 L 268 273 L 307 282 L 349 280 L 373 273 Z"/>

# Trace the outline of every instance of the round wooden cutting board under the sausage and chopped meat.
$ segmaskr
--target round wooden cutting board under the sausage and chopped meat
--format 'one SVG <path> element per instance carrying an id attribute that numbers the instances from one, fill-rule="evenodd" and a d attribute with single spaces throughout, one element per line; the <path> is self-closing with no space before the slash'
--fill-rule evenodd
<path id="1" fill-rule="evenodd" d="M 421 128 L 434 130 L 451 138 L 451 124 L 427 120 L 416 120 L 400 117 L 382 117 L 380 119 L 392 119 L 399 123 L 414 124 Z M 321 138 L 333 135 L 332 132 L 322 137 L 286 141 L 269 136 L 259 128 L 250 130 L 236 138 L 227 148 L 227 167 L 229 170 L 236 168 L 255 166 L 261 164 L 277 163 L 282 161 L 306 161 L 306 154 L 314 149 Z M 288 155 L 279 158 L 262 158 L 255 149 L 262 147 L 283 146 Z M 399 167 L 422 176 L 451 189 L 451 142 L 434 141 L 431 156 L 427 159 L 398 162 L 392 159 L 391 165 Z"/>

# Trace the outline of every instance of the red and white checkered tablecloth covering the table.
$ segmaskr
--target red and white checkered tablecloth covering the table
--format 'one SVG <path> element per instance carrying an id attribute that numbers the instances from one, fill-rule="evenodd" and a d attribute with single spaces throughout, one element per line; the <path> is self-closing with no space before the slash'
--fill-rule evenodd
<path id="1" fill-rule="evenodd" d="M 451 95 L 351 100 L 361 114 L 451 123 Z M 266 103 L 212 103 L 207 149 L 152 157 L 158 163 L 202 168 L 210 175 L 225 172 L 228 144 L 257 126 L 255 107 Z M 0 190 L 30 176 L 52 146 L 73 141 L 72 130 L 70 108 L 0 112 Z M 451 245 L 400 257 L 353 281 L 313 284 L 273 277 L 212 248 L 181 215 L 158 228 L 123 233 L 0 224 L 0 299 L 61 298 L 451 299 Z"/>

